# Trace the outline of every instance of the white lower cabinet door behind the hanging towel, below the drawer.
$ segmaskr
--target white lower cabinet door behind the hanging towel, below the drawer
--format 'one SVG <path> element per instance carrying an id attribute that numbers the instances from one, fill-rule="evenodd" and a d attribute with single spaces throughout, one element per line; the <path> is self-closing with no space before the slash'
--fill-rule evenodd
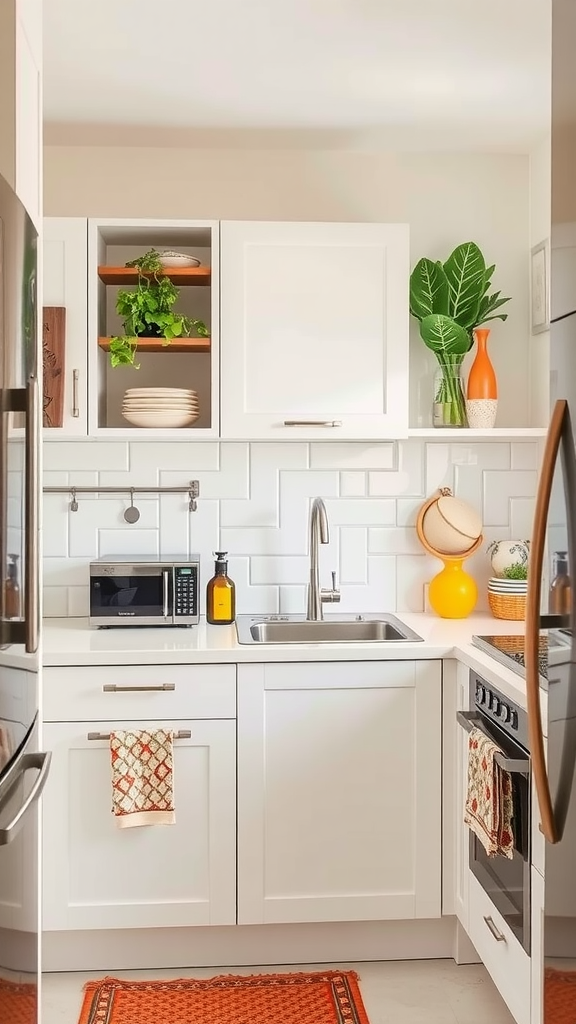
<path id="1" fill-rule="evenodd" d="M 131 723 L 150 728 L 150 723 Z M 236 723 L 156 723 L 174 740 L 173 825 L 119 828 L 110 746 L 126 723 L 46 725 L 43 925 L 46 931 L 236 923 Z"/>

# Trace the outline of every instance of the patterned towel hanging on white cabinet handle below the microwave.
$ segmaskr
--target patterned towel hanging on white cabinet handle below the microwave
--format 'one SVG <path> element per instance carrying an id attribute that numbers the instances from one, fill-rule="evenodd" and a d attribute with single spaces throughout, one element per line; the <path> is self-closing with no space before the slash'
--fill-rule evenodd
<path id="1" fill-rule="evenodd" d="M 112 810 L 120 828 L 171 825 L 174 813 L 173 732 L 111 732 Z"/>

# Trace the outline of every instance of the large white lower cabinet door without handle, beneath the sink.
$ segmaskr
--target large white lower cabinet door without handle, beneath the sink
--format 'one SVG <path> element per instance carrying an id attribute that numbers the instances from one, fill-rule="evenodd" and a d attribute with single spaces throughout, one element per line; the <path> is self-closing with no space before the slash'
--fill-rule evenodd
<path id="1" fill-rule="evenodd" d="M 238 923 L 440 915 L 439 662 L 238 667 Z"/>

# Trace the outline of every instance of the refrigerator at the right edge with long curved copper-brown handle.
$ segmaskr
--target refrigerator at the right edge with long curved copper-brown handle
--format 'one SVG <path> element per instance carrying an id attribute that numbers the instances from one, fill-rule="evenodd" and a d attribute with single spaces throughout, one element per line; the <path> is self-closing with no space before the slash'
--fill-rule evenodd
<path id="1" fill-rule="evenodd" d="M 533 1021 L 576 1021 L 576 4 L 552 0 L 552 416 L 542 460 L 530 556 L 526 670 L 537 795 L 535 847 L 545 838 L 540 1006 Z M 538 651 L 547 651 L 547 680 Z M 536 859 L 536 857 L 534 858 Z M 537 877 L 533 876 L 537 884 Z M 534 920 L 534 918 L 533 918 Z M 553 1005 L 566 1016 L 556 1016 Z"/>

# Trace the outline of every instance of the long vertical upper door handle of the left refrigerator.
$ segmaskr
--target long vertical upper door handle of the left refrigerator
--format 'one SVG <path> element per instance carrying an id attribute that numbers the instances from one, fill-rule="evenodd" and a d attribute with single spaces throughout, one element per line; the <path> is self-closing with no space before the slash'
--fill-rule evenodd
<path id="1" fill-rule="evenodd" d="M 25 644 L 29 654 L 38 650 L 40 627 L 38 473 L 40 453 L 40 402 L 38 377 L 31 374 L 26 387 L 26 546 Z"/>

